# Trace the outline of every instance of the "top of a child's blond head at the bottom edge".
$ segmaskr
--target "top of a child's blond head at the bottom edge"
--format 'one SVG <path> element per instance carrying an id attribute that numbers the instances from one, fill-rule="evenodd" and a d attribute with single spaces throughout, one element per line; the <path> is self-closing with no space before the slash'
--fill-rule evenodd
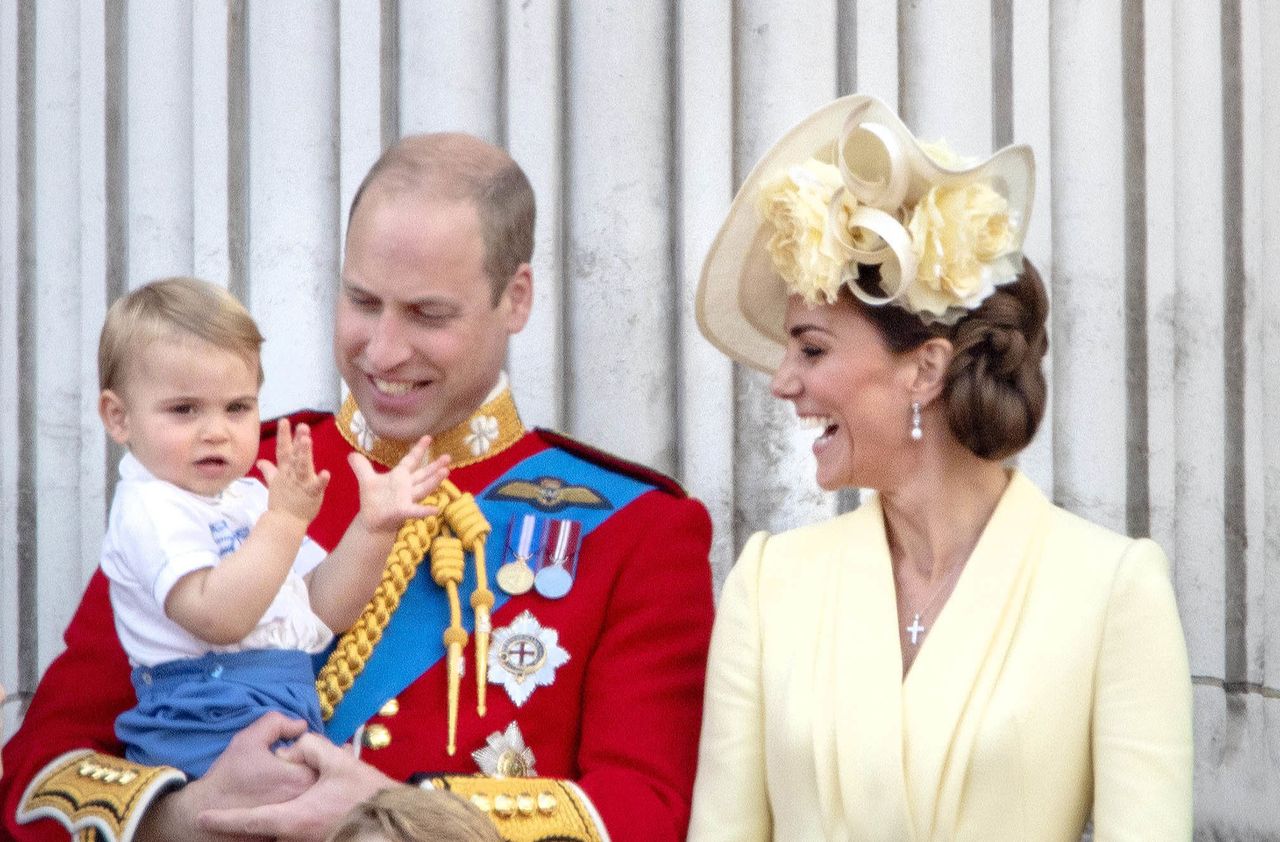
<path id="1" fill-rule="evenodd" d="M 502 842 L 484 813 L 443 790 L 390 787 L 357 804 L 328 842 Z"/>

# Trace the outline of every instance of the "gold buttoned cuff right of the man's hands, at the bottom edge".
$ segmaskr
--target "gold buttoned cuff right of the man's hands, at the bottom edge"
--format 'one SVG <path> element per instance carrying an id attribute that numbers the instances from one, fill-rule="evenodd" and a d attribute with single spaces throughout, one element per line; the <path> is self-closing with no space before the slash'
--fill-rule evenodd
<path id="1" fill-rule="evenodd" d="M 595 806 L 571 781 L 444 775 L 430 783 L 480 807 L 508 842 L 609 842 Z"/>

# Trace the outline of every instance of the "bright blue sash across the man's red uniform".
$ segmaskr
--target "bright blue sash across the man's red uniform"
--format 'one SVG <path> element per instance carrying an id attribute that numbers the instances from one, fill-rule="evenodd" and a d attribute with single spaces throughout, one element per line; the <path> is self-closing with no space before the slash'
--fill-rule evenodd
<path id="1" fill-rule="evenodd" d="M 598 493 L 604 504 L 558 502 L 553 508 L 547 500 L 535 502 L 518 499 L 515 495 L 495 496 L 495 489 L 512 482 L 538 486 L 545 477 L 557 477 L 572 486 L 585 486 Z M 654 486 L 609 468 L 588 462 L 567 450 L 548 448 L 512 466 L 506 473 L 493 481 L 484 491 L 476 494 L 476 503 L 493 530 L 485 543 L 485 567 L 493 589 L 493 613 L 511 599 L 494 584 L 494 575 L 503 563 L 507 522 L 513 514 L 553 513 L 557 518 L 575 520 L 582 525 L 582 537 L 607 521 L 614 512 L 623 508 Z M 567 495 L 566 500 L 577 495 Z M 588 559 L 582 563 L 590 563 Z M 449 603 L 444 589 L 431 581 L 428 562 L 422 562 L 417 575 L 408 584 L 399 608 L 392 614 L 383 631 L 383 637 L 374 647 L 365 669 L 356 677 L 351 690 L 334 709 L 333 718 L 325 726 L 325 733 L 335 743 L 351 740 L 356 729 L 370 717 L 411 683 L 417 681 L 444 658 L 442 633 L 449 624 Z M 466 573 L 458 594 L 462 595 L 462 624 L 467 633 L 472 632 L 475 616 L 466 609 L 467 595 L 475 590 L 475 560 L 467 555 Z M 567 599 L 572 599 L 572 592 Z M 534 596 L 534 599 L 538 599 Z M 468 644 L 470 651 L 474 644 Z M 474 667 L 474 665 L 472 665 Z M 474 686 L 472 679 L 472 686 Z M 466 687 L 463 682 L 463 687 Z M 474 694 L 475 691 L 472 691 Z M 467 695 L 463 694 L 463 700 Z M 443 699 L 440 700 L 443 705 Z"/>

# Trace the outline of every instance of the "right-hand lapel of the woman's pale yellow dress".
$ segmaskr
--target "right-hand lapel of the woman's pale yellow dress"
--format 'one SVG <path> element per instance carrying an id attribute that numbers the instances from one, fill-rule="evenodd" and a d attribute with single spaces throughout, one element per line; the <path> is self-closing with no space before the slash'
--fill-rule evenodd
<path id="1" fill-rule="evenodd" d="M 920 838 L 950 838 L 955 828 L 973 742 L 1018 627 L 1050 511 L 1039 489 L 1014 472 L 902 685 L 906 781 Z"/>

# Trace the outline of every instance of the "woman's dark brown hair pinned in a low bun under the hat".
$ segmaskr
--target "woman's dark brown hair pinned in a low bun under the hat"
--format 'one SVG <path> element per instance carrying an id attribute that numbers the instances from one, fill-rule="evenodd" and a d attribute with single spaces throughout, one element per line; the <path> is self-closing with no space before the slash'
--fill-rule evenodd
<path id="1" fill-rule="evenodd" d="M 877 275 L 867 267 L 859 284 L 870 288 Z M 896 353 L 933 337 L 951 342 L 955 354 L 942 399 L 951 431 L 963 445 L 984 459 L 1004 459 L 1030 443 L 1044 416 L 1041 360 L 1048 351 L 1048 297 L 1029 261 L 1023 261 L 1015 280 L 997 287 L 982 306 L 951 326 L 925 325 L 900 307 L 861 302 L 858 307 Z"/>

